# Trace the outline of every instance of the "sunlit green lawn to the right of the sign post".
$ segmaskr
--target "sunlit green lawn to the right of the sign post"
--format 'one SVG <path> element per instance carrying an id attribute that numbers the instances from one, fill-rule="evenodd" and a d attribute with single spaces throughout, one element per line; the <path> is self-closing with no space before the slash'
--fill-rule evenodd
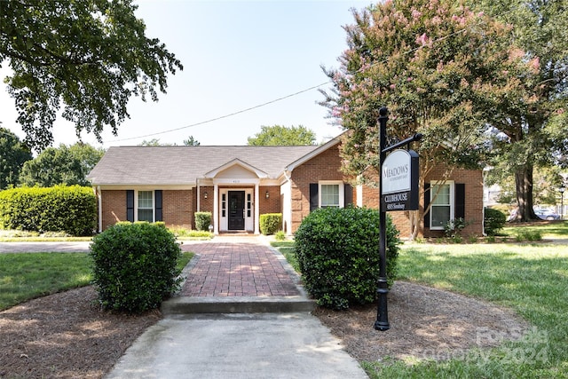
<path id="1" fill-rule="evenodd" d="M 568 246 L 406 244 L 398 262 L 399 279 L 508 306 L 535 328 L 520 342 L 460 359 L 365 362 L 371 378 L 568 377 Z"/>

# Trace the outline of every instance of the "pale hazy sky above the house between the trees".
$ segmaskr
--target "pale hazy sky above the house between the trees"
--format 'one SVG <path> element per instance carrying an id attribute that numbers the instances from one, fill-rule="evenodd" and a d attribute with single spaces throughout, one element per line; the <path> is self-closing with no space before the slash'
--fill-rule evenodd
<path id="1" fill-rule="evenodd" d="M 182 1 L 138 0 L 136 13 L 146 23 L 146 36 L 157 37 L 176 54 L 184 70 L 170 75 L 168 93 L 159 101 L 130 99 L 130 119 L 114 137 L 103 133 L 102 147 L 138 145 L 144 139 L 182 145 L 189 136 L 201 145 L 246 145 L 262 125 L 304 125 L 317 142 L 341 130 L 329 124 L 327 108 L 316 89 L 199 126 L 225 114 L 280 99 L 327 83 L 320 66 L 338 67 L 346 49 L 342 26 L 352 24 L 351 8 L 371 0 L 351 1 Z M 5 64 L 4 64 L 5 66 Z M 0 70 L 4 78 L 5 67 Z M 320 88 L 326 89 L 328 85 Z M 15 122 L 13 99 L 0 91 L 2 126 L 24 138 Z M 160 133 L 166 130 L 184 128 Z M 75 129 L 55 122 L 54 146 L 77 141 Z M 92 135 L 83 142 L 101 146 Z"/>

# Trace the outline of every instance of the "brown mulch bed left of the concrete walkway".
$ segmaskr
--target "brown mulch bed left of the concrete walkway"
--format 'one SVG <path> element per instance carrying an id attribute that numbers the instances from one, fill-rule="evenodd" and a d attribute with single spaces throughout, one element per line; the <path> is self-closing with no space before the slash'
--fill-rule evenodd
<path id="1" fill-rule="evenodd" d="M 0 378 L 102 378 L 158 311 L 102 311 L 92 287 L 0 312 Z"/>

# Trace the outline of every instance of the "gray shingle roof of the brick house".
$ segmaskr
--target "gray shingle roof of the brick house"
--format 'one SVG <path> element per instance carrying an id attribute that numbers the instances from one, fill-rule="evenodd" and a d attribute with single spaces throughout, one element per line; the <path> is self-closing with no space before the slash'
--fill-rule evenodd
<path id="1" fill-rule="evenodd" d="M 319 146 L 110 147 L 87 176 L 97 185 L 194 185 L 197 178 L 239 159 L 278 178 Z"/>

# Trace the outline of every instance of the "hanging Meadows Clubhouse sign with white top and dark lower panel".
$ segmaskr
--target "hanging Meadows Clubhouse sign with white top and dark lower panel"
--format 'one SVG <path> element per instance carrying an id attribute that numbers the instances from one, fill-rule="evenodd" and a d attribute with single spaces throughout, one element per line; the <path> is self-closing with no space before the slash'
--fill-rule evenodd
<path id="1" fill-rule="evenodd" d="M 387 155 L 381 168 L 381 208 L 418 209 L 418 170 L 418 154 L 414 150 L 394 150 Z"/>

